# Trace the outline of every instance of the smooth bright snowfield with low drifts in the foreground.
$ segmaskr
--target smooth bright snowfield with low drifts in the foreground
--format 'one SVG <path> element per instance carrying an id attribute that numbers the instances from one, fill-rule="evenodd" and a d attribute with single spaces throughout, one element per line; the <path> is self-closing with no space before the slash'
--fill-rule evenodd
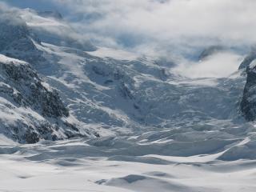
<path id="1" fill-rule="evenodd" d="M 0 191 L 256 190 L 256 161 L 217 160 L 222 152 L 186 158 L 117 156 L 125 142 L 116 150 L 82 139 L 22 146 L 1 141 Z"/>

